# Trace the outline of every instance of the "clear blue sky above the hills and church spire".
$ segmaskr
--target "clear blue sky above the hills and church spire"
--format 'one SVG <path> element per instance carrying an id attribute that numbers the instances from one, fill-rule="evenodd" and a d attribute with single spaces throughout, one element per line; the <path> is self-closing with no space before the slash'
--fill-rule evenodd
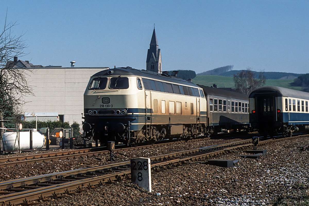
<path id="1" fill-rule="evenodd" d="M 153 24 L 162 69 L 309 72 L 309 1 L 4 1 L 33 64 L 146 69 Z"/>

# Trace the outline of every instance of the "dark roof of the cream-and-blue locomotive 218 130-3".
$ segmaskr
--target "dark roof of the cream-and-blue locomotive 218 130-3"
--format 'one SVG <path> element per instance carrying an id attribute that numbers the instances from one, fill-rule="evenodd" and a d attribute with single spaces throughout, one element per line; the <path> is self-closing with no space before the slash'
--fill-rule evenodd
<path id="1" fill-rule="evenodd" d="M 108 70 L 112 70 L 113 73 L 111 75 L 107 74 Z M 167 82 L 172 82 L 172 83 L 178 83 L 178 84 L 184 84 L 188 86 L 195 86 L 199 87 L 193 82 L 188 82 L 187 80 L 184 80 L 182 78 L 174 77 L 174 76 L 165 76 L 164 74 L 159 74 L 155 72 L 150 72 L 146 71 L 144 69 L 139 70 L 139 69 L 133 69 L 131 67 L 118 67 L 118 68 L 113 68 L 113 69 L 105 69 L 102 70 L 98 73 L 95 73 L 91 77 L 102 77 L 102 76 L 140 76 L 140 77 L 145 77 L 145 78 L 153 78 L 157 79 L 159 81 L 167 81 Z"/>

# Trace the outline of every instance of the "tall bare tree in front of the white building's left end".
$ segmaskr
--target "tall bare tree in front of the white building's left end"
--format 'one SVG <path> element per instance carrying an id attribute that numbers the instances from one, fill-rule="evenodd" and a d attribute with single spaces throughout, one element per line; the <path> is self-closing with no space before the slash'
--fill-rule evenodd
<path id="1" fill-rule="evenodd" d="M 32 88 L 27 84 L 27 68 L 18 68 L 17 56 L 27 55 L 24 48 L 27 44 L 22 39 L 24 33 L 19 36 L 13 34 L 16 22 L 7 23 L 7 13 L 3 31 L 0 33 L 0 127 L 4 128 L 4 121 L 8 114 L 16 114 L 20 106 L 25 102 L 24 96 L 33 95 Z M 16 57 L 16 58 L 14 58 Z M 30 71 L 31 72 L 31 71 Z M 2 150 L 3 129 L 0 138 L 0 150 Z"/>

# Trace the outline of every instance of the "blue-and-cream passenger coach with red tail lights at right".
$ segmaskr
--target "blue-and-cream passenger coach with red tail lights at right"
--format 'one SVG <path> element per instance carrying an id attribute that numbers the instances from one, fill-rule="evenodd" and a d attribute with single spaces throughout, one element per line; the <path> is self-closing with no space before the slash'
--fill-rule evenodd
<path id="1" fill-rule="evenodd" d="M 249 95 L 250 123 L 266 136 L 291 136 L 309 129 L 309 93 L 278 86 L 265 86 Z"/>

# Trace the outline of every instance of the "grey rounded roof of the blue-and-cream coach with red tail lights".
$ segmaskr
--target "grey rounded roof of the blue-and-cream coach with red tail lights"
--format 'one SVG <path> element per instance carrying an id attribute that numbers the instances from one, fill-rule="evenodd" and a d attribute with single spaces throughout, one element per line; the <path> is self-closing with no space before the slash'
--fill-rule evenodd
<path id="1" fill-rule="evenodd" d="M 253 98 L 257 94 L 275 94 L 277 97 L 294 97 L 300 99 L 309 99 L 309 93 L 298 91 L 279 86 L 263 86 L 251 92 L 249 98 Z"/>

